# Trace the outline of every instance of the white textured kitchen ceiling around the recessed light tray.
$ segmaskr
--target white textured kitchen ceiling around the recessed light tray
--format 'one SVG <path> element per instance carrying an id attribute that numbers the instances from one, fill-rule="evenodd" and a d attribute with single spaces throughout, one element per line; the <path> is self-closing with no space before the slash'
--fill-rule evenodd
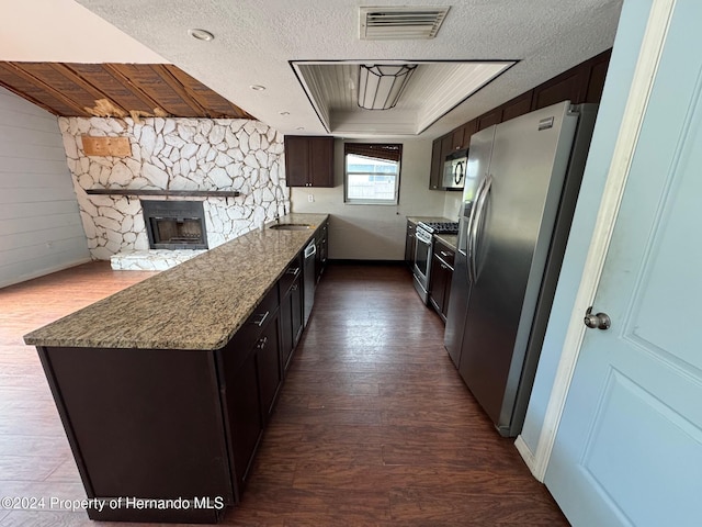
<path id="1" fill-rule="evenodd" d="M 326 133 L 291 66 L 294 60 L 518 60 L 421 134 L 433 138 L 611 47 L 621 1 L 454 0 L 438 36 L 431 41 L 360 40 L 359 0 L 79 0 L 79 3 L 147 46 L 148 53 L 163 57 L 286 134 Z M 41 10 L 34 12 L 41 14 Z M 64 35 L 81 31 L 70 16 L 61 18 L 60 13 L 55 14 L 54 23 Z M 191 27 L 208 30 L 215 38 L 195 41 L 188 35 Z M 105 55 L 107 49 L 114 52 L 109 44 L 104 43 Z M 92 55 L 99 52 L 99 46 L 91 49 Z M 267 89 L 253 91 L 251 85 Z"/>

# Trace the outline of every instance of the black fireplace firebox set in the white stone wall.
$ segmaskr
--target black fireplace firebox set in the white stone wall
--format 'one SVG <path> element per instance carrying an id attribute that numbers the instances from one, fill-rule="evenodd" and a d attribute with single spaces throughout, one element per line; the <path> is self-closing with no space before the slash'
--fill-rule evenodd
<path id="1" fill-rule="evenodd" d="M 202 201 L 141 200 L 141 210 L 150 248 L 207 248 Z"/>

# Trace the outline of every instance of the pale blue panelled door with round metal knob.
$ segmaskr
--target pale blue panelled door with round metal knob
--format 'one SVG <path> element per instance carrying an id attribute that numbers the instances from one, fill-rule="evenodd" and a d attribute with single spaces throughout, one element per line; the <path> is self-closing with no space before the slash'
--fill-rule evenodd
<path id="1" fill-rule="evenodd" d="M 576 527 L 702 525 L 702 2 L 678 0 L 545 483 Z M 585 315 L 585 314 L 584 314 Z"/>

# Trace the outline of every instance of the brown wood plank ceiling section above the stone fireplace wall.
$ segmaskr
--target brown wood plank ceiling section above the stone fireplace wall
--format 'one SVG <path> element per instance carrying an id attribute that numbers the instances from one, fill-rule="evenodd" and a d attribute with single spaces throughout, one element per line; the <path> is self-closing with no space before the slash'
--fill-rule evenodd
<path id="1" fill-rule="evenodd" d="M 0 61 L 0 86 L 61 116 L 254 119 L 169 64 Z"/>

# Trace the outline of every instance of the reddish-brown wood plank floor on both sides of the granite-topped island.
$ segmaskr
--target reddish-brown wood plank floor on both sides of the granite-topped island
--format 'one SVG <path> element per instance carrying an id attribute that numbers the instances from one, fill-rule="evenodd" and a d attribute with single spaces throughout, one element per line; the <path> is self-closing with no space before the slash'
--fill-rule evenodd
<path id="1" fill-rule="evenodd" d="M 93 264 L 0 289 L 0 496 L 84 497 L 22 335 L 150 274 Z M 568 525 L 462 383 L 408 271 L 349 265 L 329 266 L 317 289 L 242 503 L 223 523 Z M 0 508 L 0 525 L 125 524 Z"/>

